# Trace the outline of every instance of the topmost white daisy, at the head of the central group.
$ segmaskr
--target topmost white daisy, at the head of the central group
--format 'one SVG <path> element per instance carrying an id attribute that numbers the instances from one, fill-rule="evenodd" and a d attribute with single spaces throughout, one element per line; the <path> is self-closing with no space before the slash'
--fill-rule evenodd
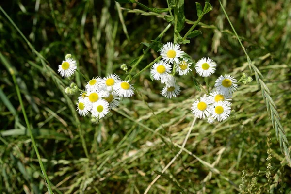
<path id="1" fill-rule="evenodd" d="M 174 61 L 179 63 L 178 58 L 181 57 L 182 53 L 184 52 L 180 49 L 180 45 L 171 42 L 164 44 L 161 49 L 162 59 L 169 63 L 173 63 Z"/>

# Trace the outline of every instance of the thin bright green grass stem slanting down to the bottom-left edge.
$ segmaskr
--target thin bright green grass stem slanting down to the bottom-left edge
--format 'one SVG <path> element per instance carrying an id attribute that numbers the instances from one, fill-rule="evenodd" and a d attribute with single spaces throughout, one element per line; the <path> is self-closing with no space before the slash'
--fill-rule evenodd
<path id="1" fill-rule="evenodd" d="M 44 176 L 45 176 L 45 182 L 47 183 L 47 188 L 48 188 L 48 190 L 49 190 L 49 193 L 50 193 L 50 194 L 53 194 L 52 189 L 51 189 L 51 185 L 50 185 L 50 182 L 49 182 L 49 178 L 48 178 L 48 175 L 47 175 L 47 172 L 46 172 L 46 169 L 45 169 L 45 167 L 44 167 L 44 164 L 43 164 L 42 161 L 41 161 L 41 157 L 40 157 L 40 155 L 39 155 L 39 152 L 38 152 L 38 149 L 37 149 L 37 146 L 36 146 L 36 143 L 35 143 L 35 140 L 34 140 L 33 134 L 32 134 L 32 129 L 30 128 L 30 124 L 29 124 L 29 121 L 28 121 L 28 118 L 27 118 L 27 115 L 26 115 L 26 112 L 25 112 L 25 108 L 24 108 L 24 105 L 23 105 L 23 102 L 22 102 L 22 98 L 21 98 L 21 95 L 20 95 L 20 90 L 19 90 L 18 84 L 17 84 L 17 82 L 16 82 L 15 73 L 14 73 L 13 70 L 10 70 L 10 74 L 11 74 L 12 79 L 13 79 L 14 84 L 15 84 L 16 93 L 17 93 L 17 97 L 18 97 L 19 102 L 20 102 L 20 106 L 21 106 L 21 109 L 22 109 L 22 113 L 23 113 L 23 116 L 24 116 L 24 120 L 25 120 L 25 123 L 26 123 L 27 129 L 28 129 L 29 134 L 30 134 L 31 139 L 32 139 L 32 145 L 33 145 L 33 147 L 34 147 L 34 150 L 35 150 L 35 153 L 36 153 L 36 156 L 37 156 L 37 159 L 38 159 L 38 162 L 39 162 L 39 165 L 40 165 L 41 171 L 42 171 L 42 173 L 43 173 Z"/>

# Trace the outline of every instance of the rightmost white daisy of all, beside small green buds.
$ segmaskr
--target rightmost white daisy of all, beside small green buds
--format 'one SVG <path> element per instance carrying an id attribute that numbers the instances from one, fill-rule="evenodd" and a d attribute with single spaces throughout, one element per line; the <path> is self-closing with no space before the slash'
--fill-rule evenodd
<path id="1" fill-rule="evenodd" d="M 221 75 L 219 78 L 215 81 L 214 87 L 216 90 L 221 92 L 224 95 L 232 95 L 234 91 L 238 88 L 238 81 L 230 76 L 230 75 Z"/>

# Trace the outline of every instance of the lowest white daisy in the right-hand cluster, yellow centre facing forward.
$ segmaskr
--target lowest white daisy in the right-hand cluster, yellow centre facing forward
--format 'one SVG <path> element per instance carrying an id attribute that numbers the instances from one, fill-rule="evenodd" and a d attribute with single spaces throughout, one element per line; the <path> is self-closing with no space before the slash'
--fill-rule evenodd
<path id="1" fill-rule="evenodd" d="M 218 121 L 224 121 L 229 117 L 230 106 L 226 101 L 218 101 L 213 104 L 213 118 Z"/>

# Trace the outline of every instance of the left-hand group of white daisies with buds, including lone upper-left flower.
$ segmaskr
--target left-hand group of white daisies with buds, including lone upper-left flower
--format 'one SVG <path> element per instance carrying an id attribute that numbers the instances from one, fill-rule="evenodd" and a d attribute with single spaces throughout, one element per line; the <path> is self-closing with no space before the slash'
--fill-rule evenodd
<path id="1" fill-rule="evenodd" d="M 59 65 L 58 72 L 62 77 L 69 78 L 75 73 L 76 64 L 77 61 L 68 54 L 65 61 Z M 75 83 L 65 89 L 68 94 L 75 94 L 76 91 L 81 92 L 76 103 L 78 113 L 81 116 L 91 113 L 94 117 L 92 121 L 103 118 L 110 110 L 118 107 L 121 98 L 134 95 L 133 85 L 129 84 L 129 81 L 121 80 L 116 74 L 110 74 L 104 78 L 93 77 L 88 81 L 85 90 L 80 90 Z"/>

